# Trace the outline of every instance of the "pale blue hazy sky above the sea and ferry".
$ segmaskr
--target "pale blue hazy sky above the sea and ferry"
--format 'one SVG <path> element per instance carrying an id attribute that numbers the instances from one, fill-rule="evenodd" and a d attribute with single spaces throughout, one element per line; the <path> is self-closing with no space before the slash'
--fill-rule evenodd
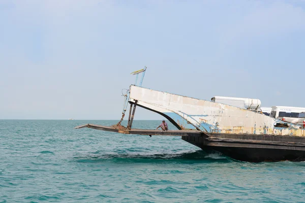
<path id="1" fill-rule="evenodd" d="M 305 107 L 304 36 L 302 0 L 0 0 L 0 119 L 120 119 L 144 66 L 151 89 Z"/>

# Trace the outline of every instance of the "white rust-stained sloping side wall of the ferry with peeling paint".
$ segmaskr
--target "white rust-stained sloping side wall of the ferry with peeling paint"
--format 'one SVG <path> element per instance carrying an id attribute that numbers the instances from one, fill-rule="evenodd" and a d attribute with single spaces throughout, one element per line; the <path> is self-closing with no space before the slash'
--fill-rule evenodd
<path id="1" fill-rule="evenodd" d="M 271 134 L 279 136 L 305 136 L 300 126 L 287 123 L 288 127 L 277 127 L 286 123 L 253 111 L 214 103 L 168 92 L 130 86 L 130 98 L 142 106 L 165 109 L 173 112 L 204 133 Z"/>

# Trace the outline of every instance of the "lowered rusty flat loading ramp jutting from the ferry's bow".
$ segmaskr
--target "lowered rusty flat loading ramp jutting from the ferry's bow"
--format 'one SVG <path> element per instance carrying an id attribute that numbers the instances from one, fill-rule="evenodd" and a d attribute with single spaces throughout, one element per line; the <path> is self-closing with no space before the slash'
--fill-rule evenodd
<path id="1" fill-rule="evenodd" d="M 96 125 L 96 124 L 85 124 L 85 125 L 80 125 L 75 127 L 75 129 L 79 128 L 93 128 L 97 130 L 104 130 L 104 131 L 110 131 L 110 132 L 118 132 L 118 133 L 123 133 L 123 134 L 140 134 L 140 135 L 148 135 L 148 136 L 192 136 L 192 137 L 200 137 L 204 136 L 205 134 L 199 130 L 167 130 L 167 131 L 162 131 L 162 130 L 150 130 L 150 129 L 128 129 L 121 127 L 119 128 L 118 126 L 103 126 L 103 125 Z"/>

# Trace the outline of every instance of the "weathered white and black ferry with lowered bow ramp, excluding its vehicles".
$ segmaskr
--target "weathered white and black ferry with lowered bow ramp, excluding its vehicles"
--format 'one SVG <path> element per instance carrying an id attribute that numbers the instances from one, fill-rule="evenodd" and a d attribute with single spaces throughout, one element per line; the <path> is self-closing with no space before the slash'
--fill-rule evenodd
<path id="1" fill-rule="evenodd" d="M 136 83 L 131 85 L 125 94 L 122 117 L 117 124 L 85 124 L 75 128 L 89 127 L 150 136 L 181 136 L 182 140 L 204 151 L 218 151 L 241 161 L 305 160 L 305 130 L 302 125 L 266 116 L 257 111 L 257 107 L 245 109 L 217 101 L 144 88 L 142 81 L 145 71 L 146 67 L 132 73 L 136 75 Z M 142 75 L 138 81 L 140 73 Z M 121 121 L 125 117 L 128 104 L 128 124 L 122 126 Z M 177 130 L 132 128 L 136 107 L 163 115 L 177 127 Z M 181 123 L 176 122 L 175 116 L 182 118 L 194 129 L 181 126 Z"/>

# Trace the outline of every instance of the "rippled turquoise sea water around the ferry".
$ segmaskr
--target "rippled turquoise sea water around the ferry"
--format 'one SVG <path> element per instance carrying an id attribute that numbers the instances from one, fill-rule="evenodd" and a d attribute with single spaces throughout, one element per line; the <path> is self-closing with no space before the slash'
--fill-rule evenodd
<path id="1" fill-rule="evenodd" d="M 240 162 L 179 137 L 74 129 L 116 122 L 0 120 L 0 202 L 305 201 L 305 162 Z"/>

